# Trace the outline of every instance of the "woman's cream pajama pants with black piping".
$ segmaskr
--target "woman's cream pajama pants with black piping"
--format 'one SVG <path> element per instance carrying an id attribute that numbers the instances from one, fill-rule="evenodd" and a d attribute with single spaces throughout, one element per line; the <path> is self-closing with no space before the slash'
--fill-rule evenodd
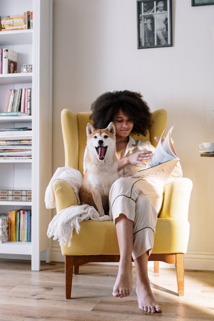
<path id="1" fill-rule="evenodd" d="M 152 251 L 158 212 L 163 200 L 163 188 L 139 178 L 119 178 L 109 193 L 109 215 L 123 213 L 134 222 L 132 257 Z"/>

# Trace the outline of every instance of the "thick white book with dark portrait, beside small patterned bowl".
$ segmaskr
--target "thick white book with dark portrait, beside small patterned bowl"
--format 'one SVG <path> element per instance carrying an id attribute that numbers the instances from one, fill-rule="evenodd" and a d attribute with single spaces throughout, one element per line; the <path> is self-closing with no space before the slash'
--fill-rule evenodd
<path id="1" fill-rule="evenodd" d="M 2 73 L 14 74 L 17 70 L 18 53 L 8 48 L 3 48 Z"/>

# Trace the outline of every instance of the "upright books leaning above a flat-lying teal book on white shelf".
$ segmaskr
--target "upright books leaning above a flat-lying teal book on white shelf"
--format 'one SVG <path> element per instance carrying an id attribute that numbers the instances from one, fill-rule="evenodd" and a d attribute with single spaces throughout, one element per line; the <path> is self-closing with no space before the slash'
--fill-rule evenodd
<path id="1" fill-rule="evenodd" d="M 9 89 L 0 116 L 30 116 L 32 113 L 32 88 Z"/>

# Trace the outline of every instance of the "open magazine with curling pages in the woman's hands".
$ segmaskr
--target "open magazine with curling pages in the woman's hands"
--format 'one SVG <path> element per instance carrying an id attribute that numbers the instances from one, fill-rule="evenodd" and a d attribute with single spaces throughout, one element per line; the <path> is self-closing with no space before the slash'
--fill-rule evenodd
<path id="1" fill-rule="evenodd" d="M 161 139 L 164 132 L 162 133 L 148 168 L 139 170 L 133 175 L 133 178 L 166 182 L 179 160 L 171 138 L 173 127 L 174 126 L 168 131 L 163 143 L 161 142 Z"/>

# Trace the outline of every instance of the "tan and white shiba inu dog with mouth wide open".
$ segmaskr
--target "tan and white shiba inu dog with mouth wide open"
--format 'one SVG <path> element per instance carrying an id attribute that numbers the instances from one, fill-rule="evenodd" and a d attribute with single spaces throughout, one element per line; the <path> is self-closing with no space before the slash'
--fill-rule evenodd
<path id="1" fill-rule="evenodd" d="M 88 123 L 86 134 L 86 170 L 79 192 L 80 203 L 94 206 L 104 216 L 108 214 L 109 190 L 118 178 L 115 125 L 111 122 L 105 129 L 95 129 Z"/>

